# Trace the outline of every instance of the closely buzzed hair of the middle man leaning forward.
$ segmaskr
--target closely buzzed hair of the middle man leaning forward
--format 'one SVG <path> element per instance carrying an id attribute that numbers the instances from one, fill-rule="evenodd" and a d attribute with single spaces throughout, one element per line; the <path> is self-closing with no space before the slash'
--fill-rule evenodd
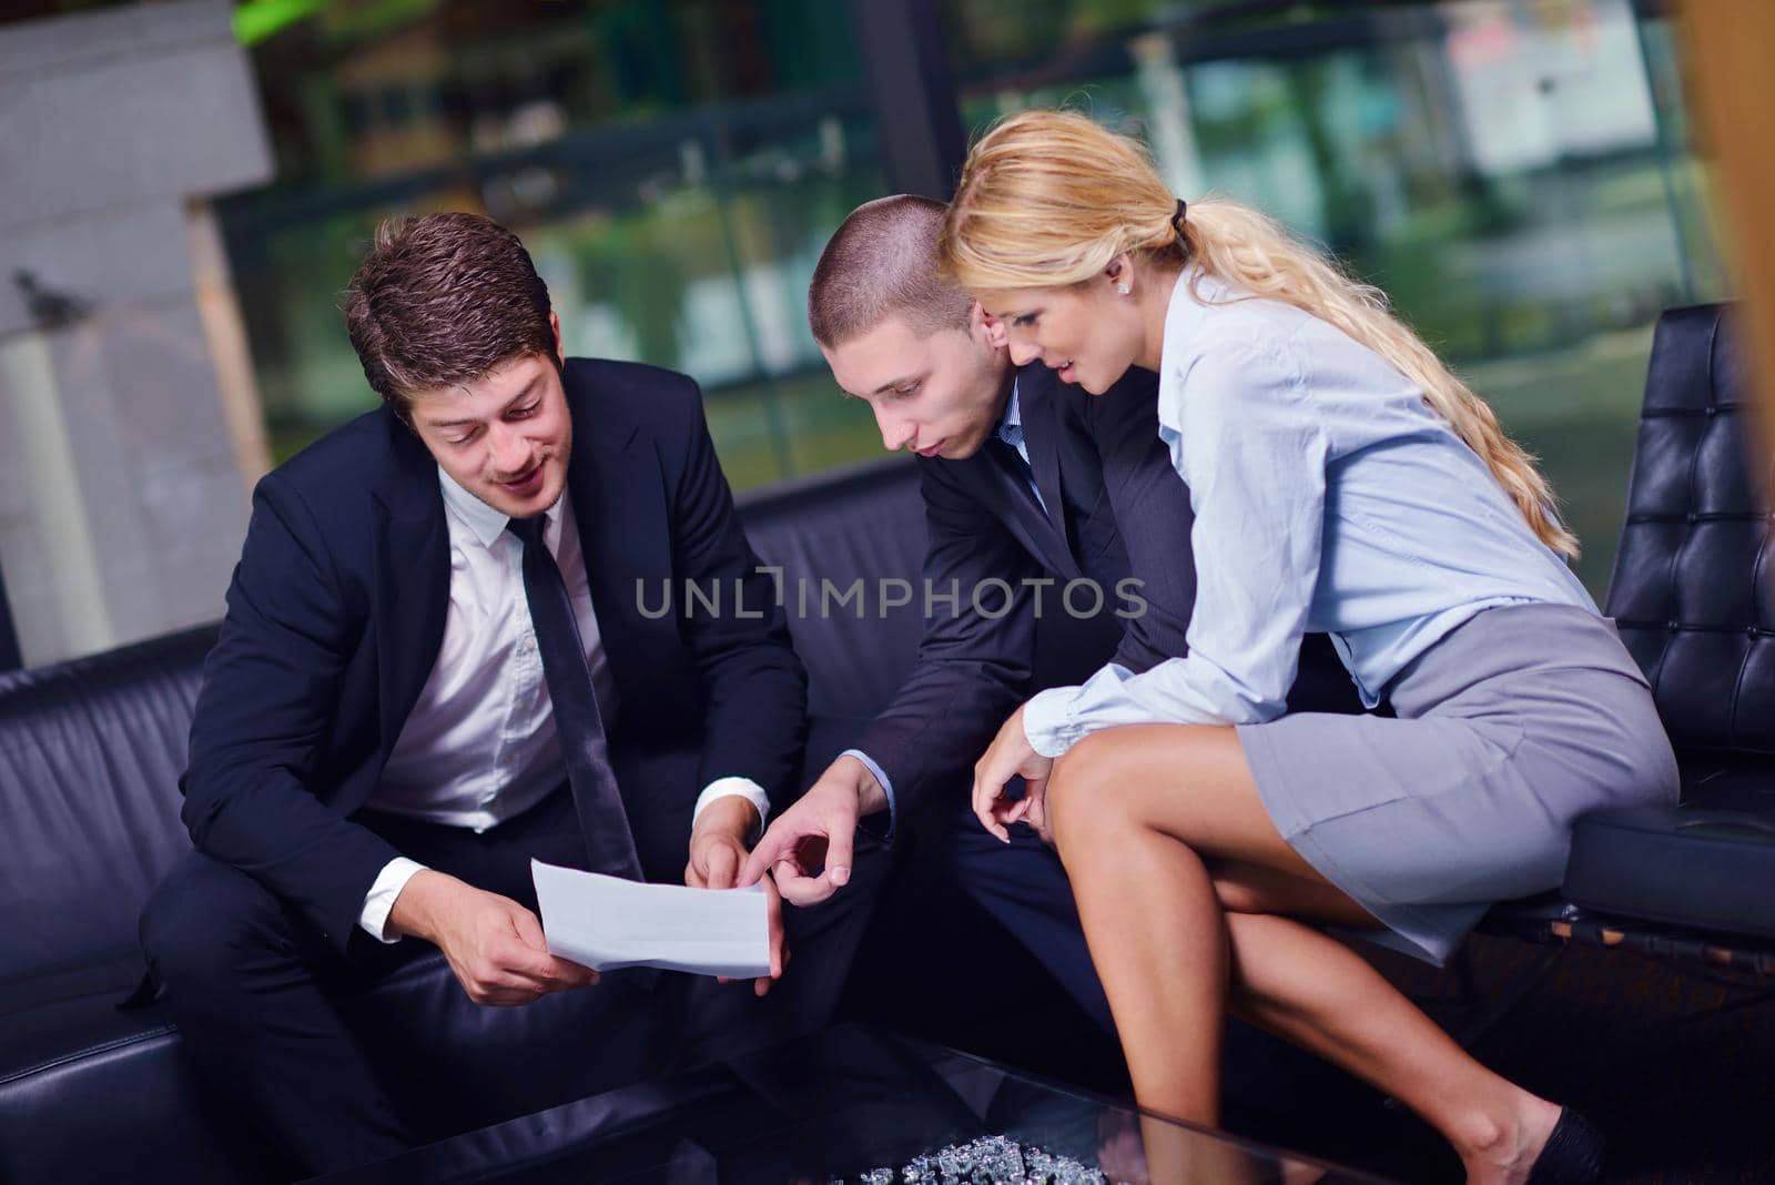
<path id="1" fill-rule="evenodd" d="M 808 326 L 827 349 L 900 318 L 919 337 L 967 326 L 973 300 L 937 273 L 943 202 L 898 193 L 850 211 L 820 252 Z"/>

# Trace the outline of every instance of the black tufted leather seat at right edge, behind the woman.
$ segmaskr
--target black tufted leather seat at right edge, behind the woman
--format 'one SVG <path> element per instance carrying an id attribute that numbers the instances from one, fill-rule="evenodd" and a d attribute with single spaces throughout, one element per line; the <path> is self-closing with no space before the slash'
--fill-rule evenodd
<path id="1" fill-rule="evenodd" d="M 1775 974 L 1775 458 L 1722 305 L 1658 321 L 1605 612 L 1683 772 L 1672 807 L 1578 820 L 1560 892 L 1487 928 Z"/>

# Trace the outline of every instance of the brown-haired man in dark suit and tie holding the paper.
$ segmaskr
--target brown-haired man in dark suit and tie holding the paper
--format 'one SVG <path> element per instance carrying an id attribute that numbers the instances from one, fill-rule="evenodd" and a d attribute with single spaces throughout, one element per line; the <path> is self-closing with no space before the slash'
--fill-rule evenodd
<path id="1" fill-rule="evenodd" d="M 678 976 L 591 986 L 548 953 L 532 857 L 735 883 L 793 789 L 806 676 L 696 385 L 568 360 L 509 231 L 385 225 L 346 323 L 383 406 L 254 493 L 181 782 L 195 853 L 142 917 L 185 1048 L 307 1171 L 415 1135 L 380 1086 L 401 1068 L 369 1064 L 325 986 L 435 944 L 476 1004 L 588 988 L 563 1059 L 614 1084 L 671 1059 L 680 1011 L 690 1057 L 822 1024 L 863 921 L 797 921 L 820 949 L 785 986 L 808 990 L 756 1006 Z M 761 608 L 643 612 L 682 582 Z"/>

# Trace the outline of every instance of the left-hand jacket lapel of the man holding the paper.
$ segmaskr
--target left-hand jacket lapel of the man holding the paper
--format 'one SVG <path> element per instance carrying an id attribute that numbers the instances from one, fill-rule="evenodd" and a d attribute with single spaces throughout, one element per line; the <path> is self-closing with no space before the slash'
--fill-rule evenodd
<path id="1" fill-rule="evenodd" d="M 390 467 L 376 488 L 382 516 L 373 610 L 383 761 L 431 676 L 449 612 L 449 527 L 437 461 L 405 424 L 385 417 Z"/>

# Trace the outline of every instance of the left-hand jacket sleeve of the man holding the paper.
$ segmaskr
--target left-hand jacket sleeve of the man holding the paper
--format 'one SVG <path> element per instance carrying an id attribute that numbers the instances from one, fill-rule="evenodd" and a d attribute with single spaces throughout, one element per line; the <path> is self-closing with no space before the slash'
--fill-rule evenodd
<path id="1" fill-rule="evenodd" d="M 302 497 L 279 474 L 264 477 L 204 663 L 183 818 L 199 851 L 259 880 L 341 949 L 398 855 L 312 784 L 364 621 L 348 610 Z"/>

